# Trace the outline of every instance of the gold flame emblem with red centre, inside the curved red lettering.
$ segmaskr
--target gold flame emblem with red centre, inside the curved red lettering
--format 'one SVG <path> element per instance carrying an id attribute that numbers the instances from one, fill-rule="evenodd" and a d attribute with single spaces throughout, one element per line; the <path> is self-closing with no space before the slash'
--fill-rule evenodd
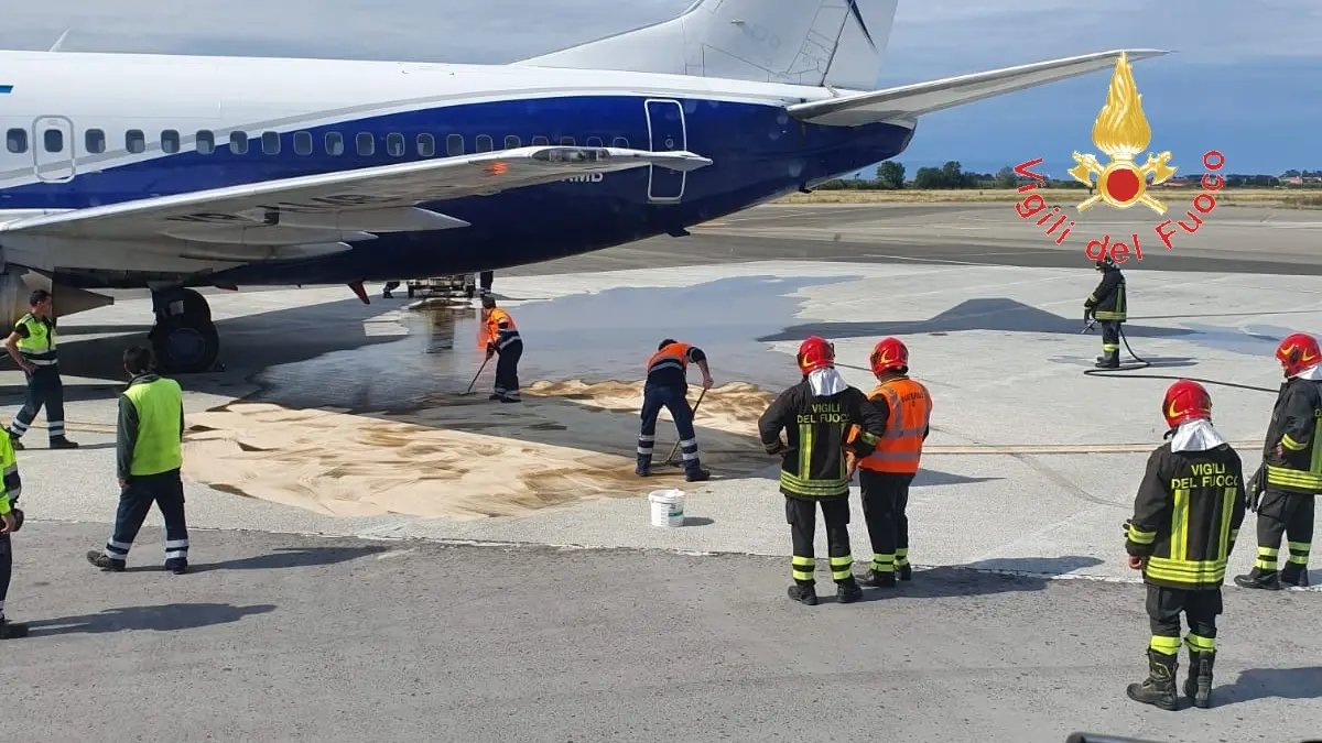
<path id="1" fill-rule="evenodd" d="M 1110 75 L 1107 104 L 1092 124 L 1092 143 L 1110 157 L 1110 163 L 1103 165 L 1095 155 L 1075 152 L 1077 165 L 1067 171 L 1076 181 L 1089 186 L 1095 185 L 1092 176 L 1097 176 L 1097 193 L 1079 204 L 1080 212 L 1105 201 L 1116 209 L 1142 204 L 1158 214 L 1166 213 L 1166 205 L 1149 196 L 1147 186 L 1175 175 L 1177 168 L 1167 165 L 1170 152 L 1157 156 L 1149 152 L 1146 163 L 1134 164 L 1134 156 L 1146 149 L 1153 137 L 1147 118 L 1144 116 L 1142 99 L 1134 85 L 1129 58 L 1121 53 L 1120 59 L 1116 59 L 1116 73 Z M 1147 182 L 1149 176 L 1153 178 L 1151 184 Z"/>

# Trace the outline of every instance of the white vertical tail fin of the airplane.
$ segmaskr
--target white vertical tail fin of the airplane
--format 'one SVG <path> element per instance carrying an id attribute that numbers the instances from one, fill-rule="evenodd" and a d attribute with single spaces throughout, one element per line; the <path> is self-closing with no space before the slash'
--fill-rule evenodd
<path id="1" fill-rule="evenodd" d="M 516 65 L 873 90 L 899 0 L 697 0 L 669 21 Z"/>

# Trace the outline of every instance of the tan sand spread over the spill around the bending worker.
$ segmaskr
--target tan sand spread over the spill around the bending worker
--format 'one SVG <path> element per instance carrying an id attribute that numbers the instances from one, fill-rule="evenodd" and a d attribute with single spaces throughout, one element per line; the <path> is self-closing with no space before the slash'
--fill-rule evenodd
<path id="1" fill-rule="evenodd" d="M 699 391 L 691 387 L 690 401 Z M 676 442 L 665 411 L 654 475 L 633 475 L 641 382 L 535 382 L 524 395 L 524 405 L 440 395 L 373 415 L 237 402 L 189 416 L 184 473 L 330 516 L 459 520 L 682 485 L 682 469 L 661 464 Z M 714 476 L 773 464 L 756 436 L 771 399 L 746 383 L 707 391 L 695 424 L 703 465 Z"/>

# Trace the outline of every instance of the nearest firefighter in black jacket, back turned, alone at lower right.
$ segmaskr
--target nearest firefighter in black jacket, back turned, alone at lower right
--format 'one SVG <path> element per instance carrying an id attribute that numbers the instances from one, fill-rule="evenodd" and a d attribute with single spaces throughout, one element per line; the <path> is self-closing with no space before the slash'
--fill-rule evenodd
<path id="1" fill-rule="evenodd" d="M 1162 401 L 1170 442 L 1147 457 L 1147 471 L 1125 522 L 1129 567 L 1147 584 L 1149 676 L 1126 689 L 1130 699 L 1179 709 L 1181 615 L 1188 624 L 1185 695 L 1211 706 L 1216 616 L 1225 563 L 1244 521 L 1244 472 L 1239 453 L 1212 427 L 1212 399 L 1198 382 L 1181 379 Z"/>

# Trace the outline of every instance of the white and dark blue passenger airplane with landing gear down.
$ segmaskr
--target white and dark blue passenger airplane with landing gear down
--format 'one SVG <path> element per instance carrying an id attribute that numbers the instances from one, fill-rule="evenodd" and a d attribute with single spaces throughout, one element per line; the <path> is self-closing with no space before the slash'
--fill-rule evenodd
<path id="1" fill-rule="evenodd" d="M 34 288 L 61 316 L 147 288 L 160 368 L 205 372 L 198 287 L 368 303 L 364 282 L 685 237 L 1122 53 L 874 90 L 896 5 L 697 0 L 506 65 L 0 52 L 0 321 Z"/>

